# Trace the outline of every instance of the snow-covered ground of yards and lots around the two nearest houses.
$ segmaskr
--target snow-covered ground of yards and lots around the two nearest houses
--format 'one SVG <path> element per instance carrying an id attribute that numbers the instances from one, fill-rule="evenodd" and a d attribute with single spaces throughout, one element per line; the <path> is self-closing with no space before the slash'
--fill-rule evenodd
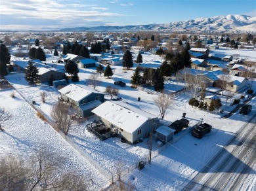
<path id="1" fill-rule="evenodd" d="M 161 61 L 160 56 L 150 56 L 149 54 L 142 54 L 142 56 L 144 61 Z M 56 60 L 56 58 L 48 56 L 47 63 L 51 63 L 52 60 Z M 58 67 L 63 67 L 61 63 L 55 64 Z M 112 68 L 114 69 L 114 76 L 111 79 L 100 77 L 101 83 L 96 87 L 96 90 L 104 92 L 106 86 L 114 86 L 114 80 L 122 80 L 127 84 L 125 87 L 118 87 L 119 96 L 123 98 L 122 101 L 160 116 L 158 108 L 153 102 L 156 95 L 147 94 L 130 87 L 133 71 L 129 70 L 123 73 L 120 66 L 113 66 Z M 95 68 L 79 69 L 80 80 L 75 84 L 87 84 L 87 79 L 93 71 Z M 7 79 L 30 103 L 35 101 L 35 107 L 50 117 L 51 107 L 57 102 L 59 96 L 55 88 L 46 84 L 28 86 L 28 82 L 24 80 L 22 74 L 9 75 Z M 182 84 L 173 81 L 173 84 L 168 84 L 166 87 L 172 92 L 177 86 L 182 86 Z M 256 82 L 253 83 L 253 90 L 256 90 Z M 40 92 L 42 91 L 46 91 L 49 95 L 46 103 L 41 101 Z M 90 121 L 75 124 L 67 139 L 64 139 L 49 124 L 42 122 L 36 116 L 35 110 L 18 93 L 15 94 L 16 98 L 12 98 L 10 96 L 12 92 L 15 91 L 0 91 L 0 106 L 11 111 L 14 116 L 11 126 L 5 127 L 5 131 L 0 132 L 0 154 L 7 152 L 26 154 L 41 145 L 51 148 L 54 154 L 69 159 L 66 164 L 67 170 L 72 168 L 81 175 L 93 175 L 93 181 L 98 185 L 98 187 L 95 186 L 95 190 L 108 186 L 112 173 L 116 173 L 118 164 L 123 164 L 123 169 L 131 171 L 137 162 L 148 158 L 148 139 L 144 139 L 142 143 L 137 145 L 121 143 L 117 137 L 99 141 L 95 135 L 85 129 L 86 124 Z M 141 97 L 141 101 L 137 101 L 137 97 Z M 190 181 L 255 114 L 255 98 L 249 102 L 253 105 L 251 113 L 248 115 L 235 113 L 228 119 L 221 118 L 223 114 L 220 113 L 208 113 L 192 108 L 188 105 L 188 99 L 190 99 L 188 94 L 177 95 L 174 98 L 173 107 L 169 109 L 164 119 L 173 122 L 180 119 L 182 113 L 186 113 L 186 118 L 190 120 L 190 127 L 203 118 L 203 122 L 211 124 L 213 130 L 202 139 L 192 137 L 188 130 L 180 135 L 178 133 L 175 136 L 177 141 L 160 154 L 155 154 L 158 147 L 154 141 L 152 164 L 146 165 L 141 171 L 135 169 L 123 177 L 125 181 L 134 184 L 138 190 L 181 190 L 184 183 Z M 222 99 L 223 109 L 229 111 L 233 109 L 234 106 L 224 103 L 225 97 Z M 255 177 L 251 179 L 248 184 L 254 184 L 252 187 L 255 188 Z"/>

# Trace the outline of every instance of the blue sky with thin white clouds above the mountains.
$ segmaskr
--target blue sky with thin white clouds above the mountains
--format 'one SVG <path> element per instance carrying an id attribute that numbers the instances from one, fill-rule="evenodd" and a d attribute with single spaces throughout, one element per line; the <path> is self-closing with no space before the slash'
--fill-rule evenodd
<path id="1" fill-rule="evenodd" d="M 1 0 L 0 29 L 165 24 L 228 14 L 256 16 L 256 0 Z"/>

